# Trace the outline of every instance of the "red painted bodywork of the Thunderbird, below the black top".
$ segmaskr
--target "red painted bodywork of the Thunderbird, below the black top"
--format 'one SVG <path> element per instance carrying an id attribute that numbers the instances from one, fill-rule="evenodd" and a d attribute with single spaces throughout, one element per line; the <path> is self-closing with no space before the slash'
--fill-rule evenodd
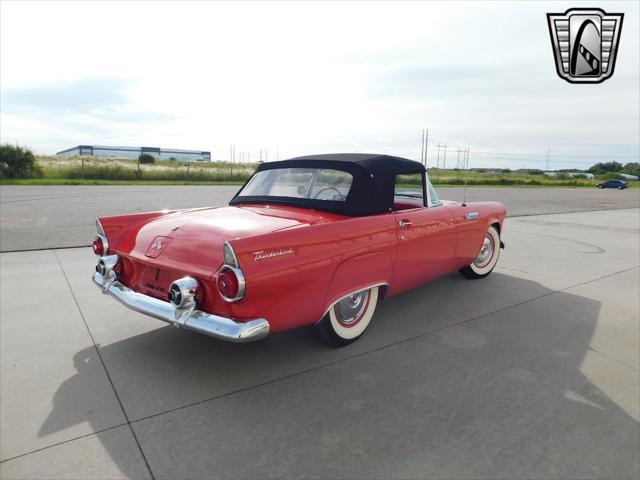
<path id="1" fill-rule="evenodd" d="M 505 215 L 495 202 L 399 201 L 395 211 L 359 217 L 241 205 L 99 221 L 127 287 L 166 300 L 173 281 L 191 276 L 200 285 L 200 310 L 237 321 L 263 317 L 278 332 L 318 322 L 357 290 L 383 285 L 383 296 L 395 295 L 468 265 L 489 226 L 502 230 Z M 411 226 L 400 228 L 400 221 Z M 227 241 L 246 278 L 244 298 L 235 303 L 216 287 Z"/>

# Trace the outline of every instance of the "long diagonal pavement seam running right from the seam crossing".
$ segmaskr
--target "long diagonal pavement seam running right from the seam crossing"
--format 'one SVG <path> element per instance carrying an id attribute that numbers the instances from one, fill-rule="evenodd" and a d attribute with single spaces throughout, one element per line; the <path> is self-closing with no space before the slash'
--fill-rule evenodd
<path id="1" fill-rule="evenodd" d="M 451 324 L 451 325 L 447 325 L 447 326 L 444 326 L 444 327 L 441 327 L 441 328 L 436 328 L 435 330 L 431 330 L 429 332 L 425 332 L 425 333 L 421 333 L 421 334 L 418 334 L 418 335 L 414 335 L 413 337 L 404 338 L 404 339 L 398 340 L 396 342 L 389 343 L 387 345 L 382 345 L 382 346 L 373 348 L 371 350 L 367 350 L 366 352 L 360 352 L 360 353 L 357 353 L 357 354 L 352 355 L 350 357 L 341 358 L 341 359 L 335 360 L 333 362 L 323 363 L 322 365 L 317 365 L 315 367 L 308 368 L 308 369 L 305 369 L 305 370 L 301 370 L 299 372 L 294 372 L 294 373 L 291 373 L 289 375 L 285 375 L 285 376 L 282 376 L 282 377 L 274 378 L 274 379 L 266 381 L 266 382 L 258 383 L 258 384 L 255 384 L 255 385 L 250 385 L 248 387 L 244 387 L 244 388 L 240 388 L 240 389 L 237 389 L 237 390 L 233 390 L 231 392 L 226 392 L 226 393 L 223 393 L 221 395 L 216 395 L 216 396 L 213 396 L 213 397 L 209 397 L 209 398 L 205 398 L 205 399 L 202 399 L 202 400 L 198 400 L 197 402 L 191 402 L 191 403 L 188 403 L 188 404 L 185 404 L 185 405 L 180 405 L 180 406 L 175 407 L 175 408 L 170 408 L 169 410 L 165 410 L 163 412 L 158 412 L 158 413 L 154 413 L 152 415 L 147 415 L 145 417 L 140 417 L 140 418 L 137 418 L 135 420 L 132 420 L 131 423 L 138 423 L 138 422 L 149 420 L 151 418 L 155 418 L 155 417 L 158 417 L 158 416 L 161 416 L 161 415 L 165 415 L 167 413 L 173 413 L 173 412 L 176 412 L 176 411 L 179 411 L 179 410 L 183 410 L 185 408 L 190 408 L 190 407 L 195 407 L 195 406 L 198 406 L 198 405 L 203 405 L 205 403 L 212 402 L 212 401 L 215 401 L 215 400 L 219 400 L 221 398 L 225 398 L 225 397 L 228 397 L 228 396 L 231 396 L 231 395 L 235 395 L 237 393 L 246 392 L 246 391 L 252 390 L 254 388 L 263 387 L 263 386 L 270 385 L 272 383 L 276 383 L 276 382 L 279 382 L 279 381 L 282 381 L 282 380 L 288 380 L 289 378 L 294 378 L 294 377 L 297 377 L 297 376 L 300 376 L 300 375 L 304 375 L 305 373 L 311 373 L 311 372 L 313 372 L 315 370 L 319 370 L 321 368 L 330 367 L 332 365 L 337 365 L 338 363 L 342 363 L 342 362 L 345 362 L 345 361 L 348 361 L 348 360 L 352 360 L 352 359 L 355 359 L 355 358 L 360 358 L 360 357 L 363 357 L 363 356 L 368 355 L 370 353 L 375 353 L 375 352 L 378 352 L 378 351 L 381 351 L 381 350 L 384 350 L 384 349 L 387 349 L 387 348 L 390 348 L 390 347 L 394 347 L 396 345 L 400 345 L 400 344 L 405 343 L 405 342 L 409 342 L 409 341 L 412 341 L 412 340 L 415 340 L 415 339 L 418 339 L 418 338 L 426 337 L 428 335 L 433 335 L 434 333 L 438 333 L 438 332 L 441 332 L 443 330 L 447 330 L 449 328 L 458 327 L 460 325 L 464 325 L 466 323 L 470 323 L 470 322 L 473 322 L 475 320 L 480 320 L 480 319 L 482 319 L 484 317 L 488 317 L 490 315 L 493 315 L 493 314 L 496 314 L 496 313 L 500 313 L 502 311 L 509 310 L 510 308 L 518 307 L 520 305 L 524 305 L 526 303 L 533 302 L 533 301 L 539 300 L 541 298 L 548 297 L 550 295 L 555 295 L 556 293 L 564 292 L 564 291 L 569 290 L 571 288 L 579 287 L 579 286 L 582 286 L 582 285 L 588 285 L 590 282 L 595 282 L 595 281 L 600 280 L 602 278 L 607 278 L 607 277 L 610 277 L 610 276 L 613 276 L 613 275 L 617 275 L 619 273 L 624 273 L 624 272 L 626 272 L 628 270 L 633 270 L 634 268 L 638 268 L 638 265 L 635 265 L 635 266 L 633 266 L 631 268 L 626 268 L 624 270 L 620 270 L 618 272 L 614 272 L 614 273 L 610 273 L 610 274 L 607 274 L 607 275 L 603 275 L 602 277 L 598 277 L 596 279 L 589 280 L 588 282 L 575 283 L 575 284 L 567 286 L 565 288 L 561 288 L 561 289 L 558 289 L 558 290 L 551 290 L 550 292 L 544 293 L 542 295 L 538 295 L 537 297 L 533 297 L 533 298 L 530 298 L 528 300 L 523 300 L 522 302 L 514 303 L 512 305 L 508 305 L 508 306 L 499 308 L 499 309 L 491 311 L 491 312 L 483 313 L 482 315 L 478 315 L 476 317 L 468 318 L 466 320 L 461 320 L 460 322 L 456 322 L 456 323 Z"/>

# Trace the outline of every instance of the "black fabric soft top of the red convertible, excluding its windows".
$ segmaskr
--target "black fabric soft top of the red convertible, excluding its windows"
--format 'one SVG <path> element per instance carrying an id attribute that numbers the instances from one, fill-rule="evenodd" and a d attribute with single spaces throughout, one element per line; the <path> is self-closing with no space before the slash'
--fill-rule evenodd
<path id="1" fill-rule="evenodd" d="M 229 202 L 229 205 L 272 203 L 314 208 L 344 215 L 375 215 L 393 210 L 396 175 L 423 174 L 425 172 L 424 165 L 421 163 L 402 157 L 366 153 L 336 153 L 309 155 L 279 162 L 262 163 L 255 173 L 276 168 L 329 168 L 342 170 L 349 172 L 353 176 L 353 182 L 344 201 L 276 196 L 239 197 L 236 194 Z M 242 191 L 242 188 L 238 193 Z"/>

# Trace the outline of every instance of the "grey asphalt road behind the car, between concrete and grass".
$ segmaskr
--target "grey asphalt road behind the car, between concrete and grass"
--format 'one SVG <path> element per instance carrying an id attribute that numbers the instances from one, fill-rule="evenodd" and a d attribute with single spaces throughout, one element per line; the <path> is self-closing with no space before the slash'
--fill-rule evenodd
<path id="1" fill-rule="evenodd" d="M 0 251 L 86 246 L 98 216 L 163 208 L 224 205 L 238 187 L 13 186 L 0 187 Z M 440 196 L 461 201 L 462 188 Z M 469 201 L 496 200 L 510 216 L 640 206 L 640 190 L 469 188 Z"/>

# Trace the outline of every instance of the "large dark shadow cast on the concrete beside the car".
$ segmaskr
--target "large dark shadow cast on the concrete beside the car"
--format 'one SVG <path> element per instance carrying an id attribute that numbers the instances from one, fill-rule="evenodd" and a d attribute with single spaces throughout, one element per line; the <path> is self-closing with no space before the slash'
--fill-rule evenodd
<path id="1" fill-rule="evenodd" d="M 475 319 L 461 316 L 460 305 L 473 292 L 484 292 L 489 305 L 504 304 L 501 289 L 483 282 L 494 282 L 494 287 L 508 283 L 512 292 L 532 291 L 535 295 L 529 298 L 537 300 Z M 262 412 L 258 416 L 228 411 L 222 415 L 228 418 L 220 418 L 218 412 L 215 419 L 212 415 L 184 426 L 174 416 L 170 427 L 158 427 L 162 436 L 145 436 L 143 430 L 142 449 L 160 477 L 193 477 L 202 471 L 245 478 L 282 476 L 283 471 L 291 477 L 339 472 L 344 477 L 389 478 L 637 476 L 639 425 L 629 413 L 633 399 L 621 400 L 619 395 L 620 389 L 629 388 L 619 384 L 627 373 L 616 376 L 620 365 L 592 348 L 596 327 L 603 321 L 600 302 L 497 272 L 483 282 L 448 276 L 393 297 L 381 305 L 367 335 L 346 349 L 317 343 L 308 329 L 235 345 L 165 327 L 99 350 L 136 431 L 140 419 L 159 415 L 142 422 L 161 422 L 163 412 L 196 404 L 204 408 L 209 399 L 255 388 L 267 391 L 286 378 L 286 386 L 269 393 L 280 404 L 290 403 L 286 418 L 279 407 L 269 411 L 265 403 L 255 406 Z M 376 356 L 384 359 L 384 368 Z M 87 365 L 100 358 L 92 347 L 77 352 L 73 362 L 77 373 L 57 390 L 40 436 L 92 421 L 91 404 L 73 410 L 66 405 L 78 404 L 92 371 Z M 353 362 L 350 368 L 342 366 L 347 362 Z M 374 390 L 356 381 L 363 374 L 379 380 Z M 297 405 L 292 384 L 324 406 Z M 390 384 L 405 394 L 390 397 Z M 327 390 L 332 390 L 330 395 Z M 340 412 L 358 400 L 376 402 L 378 408 L 350 411 L 345 426 Z M 326 414 L 327 402 L 338 412 L 335 418 Z M 389 423 L 386 431 L 392 422 L 385 413 L 389 409 L 395 417 L 406 413 L 402 428 Z M 182 410 L 185 416 L 188 410 Z M 300 417 L 289 416 L 291 411 Z M 233 422 L 253 422 L 257 437 L 243 438 L 243 429 L 234 429 Z M 323 425 L 322 435 L 333 436 L 334 442 L 320 445 L 312 440 L 314 432 L 307 428 L 316 422 Z M 285 444 L 270 436 L 278 424 L 288 429 L 288 440 L 281 440 Z M 362 438 L 362 429 L 374 424 L 369 438 Z M 252 468 L 250 460 L 229 461 L 237 452 L 214 440 L 216 429 L 223 427 L 225 434 L 238 432 L 231 433 L 238 438 L 228 440 L 236 448 L 242 445 L 243 458 L 274 458 L 274 463 Z M 380 444 L 402 444 L 407 436 L 411 449 L 374 453 Z M 359 452 L 371 453 L 368 463 L 351 471 L 344 452 L 356 443 Z M 115 454 L 120 450 L 106 443 L 104 447 L 125 476 L 135 474 L 129 471 L 130 463 Z M 314 462 L 318 449 L 334 464 Z M 168 450 L 172 461 L 162 454 Z"/>

